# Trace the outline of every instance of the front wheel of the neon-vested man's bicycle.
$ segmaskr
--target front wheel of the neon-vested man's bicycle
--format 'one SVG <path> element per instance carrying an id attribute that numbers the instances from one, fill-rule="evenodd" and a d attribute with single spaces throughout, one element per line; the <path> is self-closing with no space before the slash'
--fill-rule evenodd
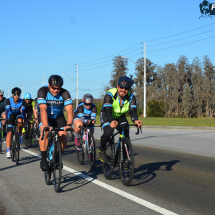
<path id="1" fill-rule="evenodd" d="M 120 146 L 121 147 L 121 146 Z M 122 183 L 129 186 L 134 174 L 134 150 L 128 138 L 122 138 L 122 155 L 119 153 L 119 172 Z M 120 148 L 121 152 L 121 148 Z"/>

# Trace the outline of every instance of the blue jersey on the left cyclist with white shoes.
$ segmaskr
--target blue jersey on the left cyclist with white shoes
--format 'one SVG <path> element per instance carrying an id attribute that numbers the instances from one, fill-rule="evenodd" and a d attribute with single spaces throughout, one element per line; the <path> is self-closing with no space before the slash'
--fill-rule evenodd
<path id="1" fill-rule="evenodd" d="M 22 115 L 23 119 L 25 116 L 25 103 L 23 99 L 19 99 L 17 104 L 14 102 L 13 97 L 6 100 L 6 119 L 10 119 L 10 115 Z"/>

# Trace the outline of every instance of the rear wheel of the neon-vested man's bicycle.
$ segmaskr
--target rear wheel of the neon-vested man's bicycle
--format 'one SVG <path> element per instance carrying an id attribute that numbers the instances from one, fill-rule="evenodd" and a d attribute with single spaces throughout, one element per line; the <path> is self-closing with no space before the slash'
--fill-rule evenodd
<path id="1" fill-rule="evenodd" d="M 115 148 L 114 143 L 107 143 L 106 145 L 107 163 L 102 162 L 102 170 L 105 178 L 110 180 L 114 171 L 114 156 Z"/>

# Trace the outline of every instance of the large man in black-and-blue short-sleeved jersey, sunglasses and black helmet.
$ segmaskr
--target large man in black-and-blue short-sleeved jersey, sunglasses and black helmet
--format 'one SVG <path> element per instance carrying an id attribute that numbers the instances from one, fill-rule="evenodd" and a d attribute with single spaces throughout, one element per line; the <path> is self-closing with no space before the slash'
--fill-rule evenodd
<path id="1" fill-rule="evenodd" d="M 37 93 L 38 105 L 40 108 L 40 151 L 41 162 L 40 168 L 45 171 L 48 168 L 46 160 L 46 151 L 48 147 L 48 132 L 44 135 L 44 140 L 41 140 L 44 127 L 64 127 L 64 131 L 59 132 L 59 141 L 62 151 L 67 145 L 67 128 L 71 128 L 73 121 L 72 99 L 69 92 L 62 88 L 63 78 L 59 75 L 51 75 L 48 80 L 48 87 L 41 87 Z M 67 112 L 67 122 L 63 114 L 63 110 Z"/>

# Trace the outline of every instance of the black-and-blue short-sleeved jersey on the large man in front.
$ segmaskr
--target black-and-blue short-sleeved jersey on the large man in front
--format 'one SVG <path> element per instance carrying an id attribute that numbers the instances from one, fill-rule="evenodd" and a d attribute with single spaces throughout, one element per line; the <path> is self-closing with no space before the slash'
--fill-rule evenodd
<path id="1" fill-rule="evenodd" d="M 63 88 L 57 96 L 53 96 L 48 87 L 41 87 L 37 93 L 37 101 L 38 105 L 47 105 L 48 117 L 52 119 L 62 115 L 65 106 L 73 104 L 69 92 Z"/>

